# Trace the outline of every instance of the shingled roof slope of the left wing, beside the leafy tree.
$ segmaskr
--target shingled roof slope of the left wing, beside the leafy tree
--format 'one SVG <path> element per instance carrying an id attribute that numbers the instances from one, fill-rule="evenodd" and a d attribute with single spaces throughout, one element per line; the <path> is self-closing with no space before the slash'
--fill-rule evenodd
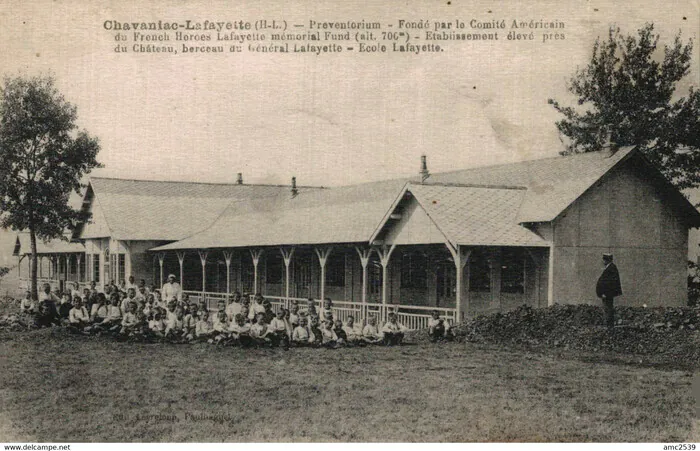
<path id="1" fill-rule="evenodd" d="M 300 187 L 305 191 L 308 187 Z M 182 239 L 211 225 L 232 202 L 289 193 L 283 185 L 90 179 L 86 202 L 97 202 L 110 236 L 119 240 Z M 83 235 L 81 238 L 98 238 Z"/>

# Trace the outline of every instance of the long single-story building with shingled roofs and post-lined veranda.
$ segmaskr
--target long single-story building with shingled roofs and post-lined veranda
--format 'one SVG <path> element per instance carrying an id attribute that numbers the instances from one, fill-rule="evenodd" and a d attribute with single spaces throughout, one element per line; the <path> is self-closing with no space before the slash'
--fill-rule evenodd
<path id="1" fill-rule="evenodd" d="M 278 305 L 330 297 L 341 317 L 393 308 L 412 327 L 432 309 L 461 321 L 598 302 L 604 252 L 620 304 L 684 305 L 688 231 L 700 227 L 633 148 L 438 174 L 423 159 L 415 178 L 333 188 L 92 178 L 83 209 L 73 243 L 40 252 L 65 262 L 52 280 L 75 269 L 99 286 L 129 275 L 159 286 L 172 273 L 214 302 L 235 290 Z"/>

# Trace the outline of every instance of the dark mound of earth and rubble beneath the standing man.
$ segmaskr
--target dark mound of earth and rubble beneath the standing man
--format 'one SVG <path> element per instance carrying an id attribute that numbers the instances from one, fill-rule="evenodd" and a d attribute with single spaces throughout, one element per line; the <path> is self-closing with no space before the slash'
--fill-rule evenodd
<path id="1" fill-rule="evenodd" d="M 522 306 L 476 317 L 453 331 L 457 341 L 661 356 L 664 361 L 700 366 L 700 309 L 616 307 L 615 315 L 617 324 L 610 333 L 599 306 Z M 417 331 L 411 338 L 427 341 L 428 334 Z"/>

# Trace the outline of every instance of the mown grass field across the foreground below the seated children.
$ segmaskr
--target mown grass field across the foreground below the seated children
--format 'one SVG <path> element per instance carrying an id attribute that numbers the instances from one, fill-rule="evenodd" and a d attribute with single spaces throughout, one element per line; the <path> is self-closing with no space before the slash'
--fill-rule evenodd
<path id="1" fill-rule="evenodd" d="M 691 380 L 463 343 L 241 350 L 3 332 L 0 437 L 678 442 Z"/>

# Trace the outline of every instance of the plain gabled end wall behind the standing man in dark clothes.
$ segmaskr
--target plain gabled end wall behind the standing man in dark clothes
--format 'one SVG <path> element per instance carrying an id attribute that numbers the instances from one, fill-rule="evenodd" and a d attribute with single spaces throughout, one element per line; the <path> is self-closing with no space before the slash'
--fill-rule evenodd
<path id="1" fill-rule="evenodd" d="M 685 305 L 688 229 L 662 195 L 627 164 L 609 173 L 554 223 L 558 303 L 599 303 L 602 254 L 620 270 L 620 305 Z"/>

